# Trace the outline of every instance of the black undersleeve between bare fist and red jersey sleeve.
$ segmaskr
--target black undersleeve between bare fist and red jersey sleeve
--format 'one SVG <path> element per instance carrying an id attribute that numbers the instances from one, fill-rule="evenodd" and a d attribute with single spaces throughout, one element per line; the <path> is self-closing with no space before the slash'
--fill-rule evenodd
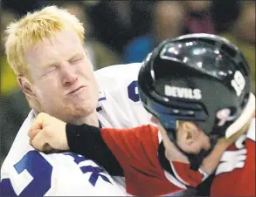
<path id="1" fill-rule="evenodd" d="M 104 166 L 111 175 L 122 175 L 122 168 L 114 153 L 102 137 L 102 132 L 115 132 L 114 129 L 100 129 L 96 126 L 74 126 L 66 124 L 66 139 L 70 150 Z"/>

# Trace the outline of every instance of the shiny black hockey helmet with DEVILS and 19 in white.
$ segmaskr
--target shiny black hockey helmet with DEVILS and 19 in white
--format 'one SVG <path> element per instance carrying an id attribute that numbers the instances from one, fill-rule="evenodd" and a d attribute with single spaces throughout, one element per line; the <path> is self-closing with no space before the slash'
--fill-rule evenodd
<path id="1" fill-rule="evenodd" d="M 255 109 L 251 73 L 238 47 L 223 37 L 167 39 L 143 61 L 139 95 L 175 141 L 176 120 L 192 121 L 211 139 L 229 138 Z"/>

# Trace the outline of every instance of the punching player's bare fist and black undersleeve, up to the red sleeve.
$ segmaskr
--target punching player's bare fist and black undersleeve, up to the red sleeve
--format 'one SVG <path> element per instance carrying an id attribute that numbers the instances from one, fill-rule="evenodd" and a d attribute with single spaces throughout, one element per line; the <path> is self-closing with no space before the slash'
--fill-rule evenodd
<path id="1" fill-rule="evenodd" d="M 121 166 L 101 137 L 99 127 L 73 126 L 41 112 L 28 136 L 31 146 L 38 151 L 49 153 L 52 150 L 71 150 L 96 161 L 112 175 L 122 175 Z"/>

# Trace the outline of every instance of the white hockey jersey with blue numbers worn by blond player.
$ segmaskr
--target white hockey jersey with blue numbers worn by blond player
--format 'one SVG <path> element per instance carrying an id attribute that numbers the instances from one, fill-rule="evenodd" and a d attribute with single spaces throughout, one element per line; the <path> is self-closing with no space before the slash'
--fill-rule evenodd
<path id="1" fill-rule="evenodd" d="M 149 124 L 137 92 L 141 64 L 113 65 L 95 71 L 100 85 L 97 108 L 101 126 Z M 103 91 L 104 90 L 104 91 Z M 125 189 L 92 160 L 75 153 L 38 153 L 29 145 L 31 111 L 1 168 L 1 196 L 126 195 Z"/>

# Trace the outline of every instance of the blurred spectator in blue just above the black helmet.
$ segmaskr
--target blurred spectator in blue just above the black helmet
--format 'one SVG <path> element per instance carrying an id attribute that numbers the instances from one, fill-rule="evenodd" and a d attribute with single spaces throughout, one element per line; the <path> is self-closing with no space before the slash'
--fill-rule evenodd
<path id="1" fill-rule="evenodd" d="M 142 62 L 149 52 L 164 39 L 183 34 L 186 13 L 182 3 L 176 1 L 156 2 L 153 14 L 152 31 L 148 35 L 135 37 L 128 43 L 124 49 L 123 63 Z"/>

